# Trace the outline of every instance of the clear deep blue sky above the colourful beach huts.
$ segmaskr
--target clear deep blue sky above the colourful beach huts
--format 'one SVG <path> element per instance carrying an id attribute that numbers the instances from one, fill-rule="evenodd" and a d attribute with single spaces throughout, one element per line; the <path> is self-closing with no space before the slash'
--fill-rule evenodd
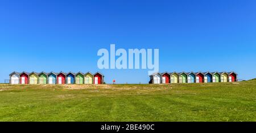
<path id="1" fill-rule="evenodd" d="M 97 68 L 100 48 L 159 48 L 160 72 L 256 77 L 256 1 L 1 1 L 0 82 L 15 71 L 97 72 L 147 83 L 147 70 Z"/>

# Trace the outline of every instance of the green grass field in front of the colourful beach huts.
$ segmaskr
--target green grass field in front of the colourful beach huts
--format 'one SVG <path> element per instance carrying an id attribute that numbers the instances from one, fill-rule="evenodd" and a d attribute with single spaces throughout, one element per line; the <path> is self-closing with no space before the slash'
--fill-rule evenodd
<path id="1" fill-rule="evenodd" d="M 256 121 L 256 80 L 171 85 L 0 84 L 0 121 Z"/>

